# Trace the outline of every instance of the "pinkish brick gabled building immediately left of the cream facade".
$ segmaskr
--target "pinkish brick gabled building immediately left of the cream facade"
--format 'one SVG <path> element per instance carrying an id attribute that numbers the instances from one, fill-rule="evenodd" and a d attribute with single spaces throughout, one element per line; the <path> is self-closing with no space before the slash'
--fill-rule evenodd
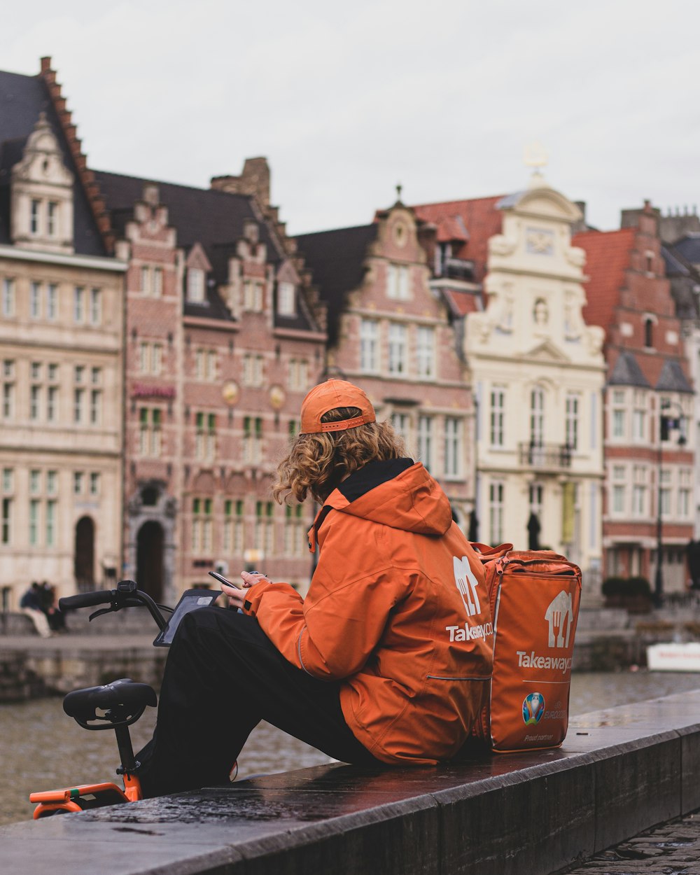
<path id="1" fill-rule="evenodd" d="M 458 523 L 473 507 L 473 409 L 444 300 L 430 290 L 423 225 L 398 200 L 357 228 L 297 237 L 328 308 L 325 373 L 357 381 L 440 481 Z"/>

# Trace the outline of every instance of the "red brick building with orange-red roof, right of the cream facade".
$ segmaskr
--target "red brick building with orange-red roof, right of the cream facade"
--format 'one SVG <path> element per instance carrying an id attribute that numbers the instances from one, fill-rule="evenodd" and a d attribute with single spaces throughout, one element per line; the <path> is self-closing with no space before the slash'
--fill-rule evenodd
<path id="1" fill-rule="evenodd" d="M 605 574 L 654 582 L 661 519 L 664 590 L 683 591 L 695 516 L 693 388 L 658 215 L 647 202 L 634 220 L 574 238 L 589 276 L 584 318 L 606 330 Z"/>

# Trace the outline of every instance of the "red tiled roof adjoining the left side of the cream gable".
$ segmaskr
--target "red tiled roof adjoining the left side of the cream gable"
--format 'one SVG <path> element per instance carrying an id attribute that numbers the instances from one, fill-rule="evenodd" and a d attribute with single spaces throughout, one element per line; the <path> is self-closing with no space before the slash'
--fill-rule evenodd
<path id="1" fill-rule="evenodd" d="M 474 262 L 474 279 L 477 282 L 486 275 L 488 241 L 500 234 L 503 216 L 498 208 L 504 195 L 471 200 L 449 200 L 437 204 L 419 204 L 412 207 L 417 219 L 430 222 L 437 228 L 438 242 L 462 242 L 452 249 L 457 258 Z M 451 236 L 465 229 L 466 237 Z"/>

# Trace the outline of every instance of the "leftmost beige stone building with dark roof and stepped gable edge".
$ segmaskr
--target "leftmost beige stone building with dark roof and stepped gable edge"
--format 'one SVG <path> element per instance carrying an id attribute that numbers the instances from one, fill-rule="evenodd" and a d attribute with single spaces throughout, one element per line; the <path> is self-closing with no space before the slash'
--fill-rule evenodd
<path id="1" fill-rule="evenodd" d="M 93 589 L 121 562 L 123 275 L 43 59 L 0 73 L 0 589 Z"/>

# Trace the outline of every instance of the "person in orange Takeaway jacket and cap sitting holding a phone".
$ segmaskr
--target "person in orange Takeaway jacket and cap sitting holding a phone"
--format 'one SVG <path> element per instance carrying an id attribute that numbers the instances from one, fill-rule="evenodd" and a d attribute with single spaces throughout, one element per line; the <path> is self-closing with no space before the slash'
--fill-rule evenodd
<path id="1" fill-rule="evenodd" d="M 228 781 L 262 719 L 337 760 L 425 765 L 479 718 L 493 663 L 481 564 L 360 388 L 311 389 L 273 493 L 323 505 L 308 594 L 242 572 L 243 589 L 224 586 L 242 613 L 186 615 L 137 754 L 146 797 Z"/>

